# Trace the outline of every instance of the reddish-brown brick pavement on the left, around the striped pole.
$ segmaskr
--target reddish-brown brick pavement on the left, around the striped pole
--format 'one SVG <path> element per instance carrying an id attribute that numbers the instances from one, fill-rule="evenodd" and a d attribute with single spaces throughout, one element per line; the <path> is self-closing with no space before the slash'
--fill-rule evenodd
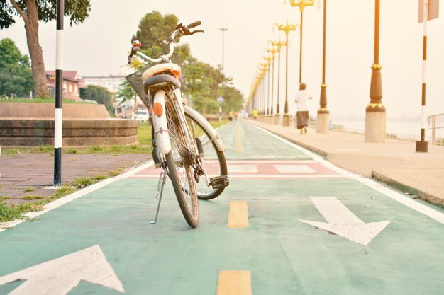
<path id="1" fill-rule="evenodd" d="M 150 160 L 146 154 L 63 154 L 62 184 L 80 176 L 94 177 L 123 173 Z M 28 196 L 48 197 L 54 190 L 44 187 L 54 181 L 54 157 L 50 154 L 13 154 L 0 156 L 0 197 L 6 202 L 29 202 Z M 28 190 L 28 192 L 26 192 Z"/>

